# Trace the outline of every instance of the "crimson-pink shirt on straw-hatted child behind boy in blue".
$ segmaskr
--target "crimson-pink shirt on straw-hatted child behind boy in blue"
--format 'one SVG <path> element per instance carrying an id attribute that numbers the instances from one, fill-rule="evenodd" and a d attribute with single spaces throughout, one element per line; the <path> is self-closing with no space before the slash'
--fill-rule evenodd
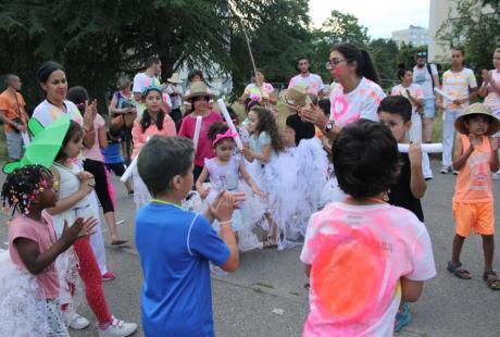
<path id="1" fill-rule="evenodd" d="M 198 147 L 195 153 L 195 165 L 203 166 L 204 159 L 214 158 L 215 152 L 212 149 L 212 142 L 209 139 L 208 132 L 210 125 L 215 122 L 223 122 L 220 113 L 210 111 L 210 113 L 201 120 L 200 137 L 198 138 Z M 192 139 L 195 136 L 196 117 L 192 114 L 187 115 L 180 124 L 179 136 Z"/>

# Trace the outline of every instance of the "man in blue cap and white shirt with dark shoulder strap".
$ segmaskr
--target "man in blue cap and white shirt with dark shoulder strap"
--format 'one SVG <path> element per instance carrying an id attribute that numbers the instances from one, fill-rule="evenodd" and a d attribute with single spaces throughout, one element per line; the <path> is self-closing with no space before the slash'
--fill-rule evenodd
<path id="1" fill-rule="evenodd" d="M 430 142 L 433 137 L 433 120 L 436 116 L 434 87 L 439 88 L 439 75 L 436 65 L 427 63 L 427 52 L 416 52 L 415 61 L 416 65 L 413 67 L 413 83 L 420 85 L 424 93 L 422 140 L 424 142 Z"/>

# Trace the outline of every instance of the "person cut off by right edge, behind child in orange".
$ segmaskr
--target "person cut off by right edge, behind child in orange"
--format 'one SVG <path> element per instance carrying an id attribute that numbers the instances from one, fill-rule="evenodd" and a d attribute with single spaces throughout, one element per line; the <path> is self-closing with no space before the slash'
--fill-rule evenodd
<path id="1" fill-rule="evenodd" d="M 492 71 L 483 71 L 483 85 L 479 88 L 479 95 L 485 98 L 485 105 L 489 107 L 493 114 L 500 118 L 500 48 L 493 52 Z M 500 134 L 495 135 L 500 137 Z M 500 179 L 500 171 L 493 173 L 493 179 Z"/>

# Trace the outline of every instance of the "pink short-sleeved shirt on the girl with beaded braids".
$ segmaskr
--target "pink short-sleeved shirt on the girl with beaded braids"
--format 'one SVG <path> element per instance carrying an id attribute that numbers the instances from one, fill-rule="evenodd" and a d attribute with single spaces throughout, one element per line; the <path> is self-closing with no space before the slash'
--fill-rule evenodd
<path id="1" fill-rule="evenodd" d="M 38 244 L 40 253 L 47 251 L 55 242 L 55 233 L 49 214 L 42 213 L 46 224 L 36 222 L 27 216 L 16 215 L 9 226 L 9 253 L 12 262 L 27 271 L 15 248 L 16 238 L 26 238 Z M 59 276 L 55 263 L 52 262 L 43 272 L 36 275 L 36 279 L 43 290 L 46 299 L 59 297 Z"/>

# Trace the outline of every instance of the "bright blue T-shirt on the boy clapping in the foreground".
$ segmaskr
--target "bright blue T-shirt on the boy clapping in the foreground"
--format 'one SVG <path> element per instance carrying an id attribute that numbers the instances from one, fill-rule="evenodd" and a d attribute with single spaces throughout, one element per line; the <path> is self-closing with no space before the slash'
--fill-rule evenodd
<path id="1" fill-rule="evenodd" d="M 136 246 L 146 336 L 214 336 L 209 261 L 222 265 L 230 252 L 209 221 L 149 203 L 136 215 Z"/>

